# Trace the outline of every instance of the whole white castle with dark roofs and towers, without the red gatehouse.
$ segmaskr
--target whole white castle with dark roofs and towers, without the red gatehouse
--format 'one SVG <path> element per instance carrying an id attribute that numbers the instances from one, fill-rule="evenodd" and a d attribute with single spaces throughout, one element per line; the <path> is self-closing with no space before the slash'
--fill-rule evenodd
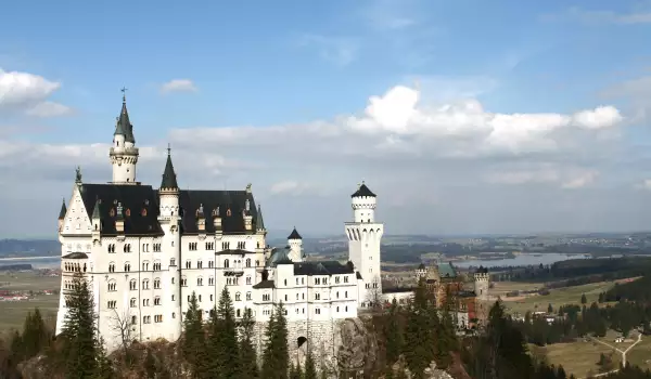
<path id="1" fill-rule="evenodd" d="M 348 263 L 306 262 L 296 228 L 286 248 L 268 247 L 251 185 L 180 190 L 169 148 L 158 190 L 138 182 L 139 149 L 124 97 L 108 156 L 113 181 L 84 183 L 77 169 L 71 199 L 61 208 L 56 334 L 75 273 L 92 287 L 98 327 L 110 351 L 122 343 L 125 325 L 129 339 L 176 341 L 192 293 L 207 319 L 225 287 L 237 317 L 252 310 L 258 336 L 273 304 L 282 302 L 291 344 L 296 341 L 298 349 L 309 340 L 330 350 L 337 323 L 356 318 L 358 308 L 382 293 L 384 225 L 375 221 L 375 195 L 365 184 L 352 195 L 354 221 L 345 224 Z"/>

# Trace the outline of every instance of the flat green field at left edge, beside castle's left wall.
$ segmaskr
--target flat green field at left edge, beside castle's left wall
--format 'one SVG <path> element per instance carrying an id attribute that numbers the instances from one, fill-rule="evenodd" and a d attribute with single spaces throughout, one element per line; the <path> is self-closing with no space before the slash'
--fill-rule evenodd
<path id="1" fill-rule="evenodd" d="M 9 282 L 9 285 L 5 283 Z M 52 276 L 40 276 L 31 272 L 26 273 L 0 273 L 0 289 L 2 290 L 46 290 L 59 291 L 61 278 Z M 59 308 L 59 295 L 42 295 L 28 301 L 3 301 L 0 302 L 0 334 L 23 327 L 27 312 L 38 308 L 46 323 L 54 324 L 56 309 Z"/>

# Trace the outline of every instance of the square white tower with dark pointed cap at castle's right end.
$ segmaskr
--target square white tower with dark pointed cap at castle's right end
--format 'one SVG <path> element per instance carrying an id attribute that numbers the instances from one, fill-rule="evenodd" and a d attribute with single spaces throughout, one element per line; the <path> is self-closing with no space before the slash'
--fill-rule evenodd
<path id="1" fill-rule="evenodd" d="M 382 295 L 380 245 L 384 224 L 375 222 L 376 196 L 363 182 L 350 197 L 354 221 L 345 224 L 348 259 L 365 284 L 359 302 L 366 306 Z"/>

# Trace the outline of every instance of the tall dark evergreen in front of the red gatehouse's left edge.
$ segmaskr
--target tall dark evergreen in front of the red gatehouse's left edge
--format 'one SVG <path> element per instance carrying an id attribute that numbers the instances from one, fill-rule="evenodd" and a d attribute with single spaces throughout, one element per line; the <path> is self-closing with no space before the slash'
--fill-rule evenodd
<path id="1" fill-rule="evenodd" d="M 407 366 L 417 379 L 423 377 L 424 369 L 434 358 L 434 325 L 431 317 L 435 312 L 432 309 L 432 299 L 421 278 L 408 308 L 404 348 Z"/>

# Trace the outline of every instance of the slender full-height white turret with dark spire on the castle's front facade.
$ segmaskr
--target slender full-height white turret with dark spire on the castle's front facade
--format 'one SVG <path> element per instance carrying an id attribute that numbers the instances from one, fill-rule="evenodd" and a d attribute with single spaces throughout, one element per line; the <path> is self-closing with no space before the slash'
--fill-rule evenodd
<path id="1" fill-rule="evenodd" d="M 181 233 L 179 230 L 179 185 L 177 183 L 176 172 L 171 164 L 171 149 L 167 147 L 167 162 L 163 171 L 163 181 L 158 188 L 158 222 L 165 235 L 159 247 L 154 247 L 154 258 L 159 259 L 163 267 L 163 283 L 165 297 L 163 306 L 173 317 L 164 317 L 165 338 L 169 341 L 176 341 L 181 336 L 181 273 L 179 264 L 181 261 Z"/>

